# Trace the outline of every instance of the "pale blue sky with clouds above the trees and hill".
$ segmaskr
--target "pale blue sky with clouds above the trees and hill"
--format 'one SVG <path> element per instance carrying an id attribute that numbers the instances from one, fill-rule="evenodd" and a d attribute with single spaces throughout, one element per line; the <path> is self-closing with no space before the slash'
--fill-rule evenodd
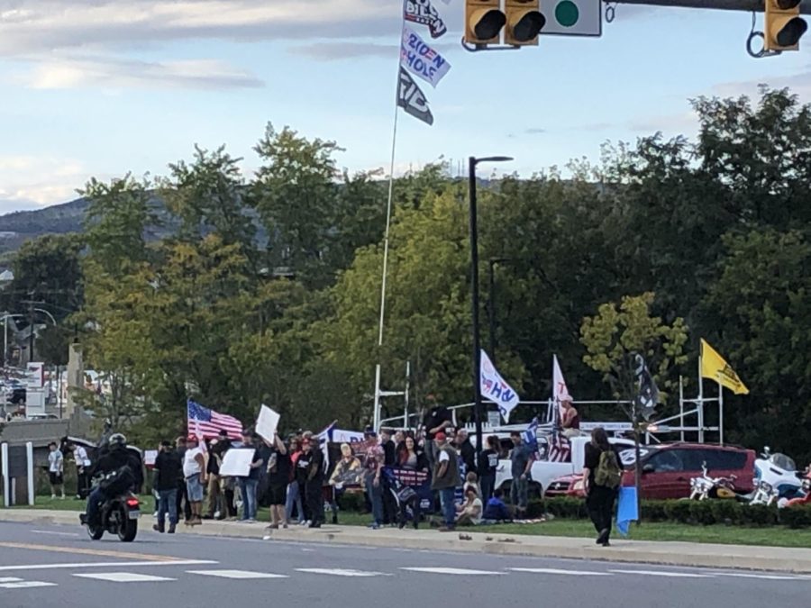
<path id="1" fill-rule="evenodd" d="M 751 14 L 618 5 L 600 38 L 469 53 L 464 0 L 433 4 L 449 32 L 413 28 L 451 70 L 418 81 L 433 126 L 400 113 L 396 175 L 471 155 L 526 177 L 598 161 L 606 141 L 693 135 L 690 98 L 761 83 L 811 102 L 811 34 L 752 59 Z M 167 175 L 196 144 L 225 144 L 250 177 L 267 123 L 388 172 L 401 17 L 402 0 L 0 0 L 0 213 L 67 202 L 90 177 Z"/>

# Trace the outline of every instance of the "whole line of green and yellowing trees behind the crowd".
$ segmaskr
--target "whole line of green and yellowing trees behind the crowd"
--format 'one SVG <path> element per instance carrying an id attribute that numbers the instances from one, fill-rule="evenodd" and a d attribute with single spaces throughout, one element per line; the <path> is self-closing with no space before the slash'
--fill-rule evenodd
<path id="1" fill-rule="evenodd" d="M 551 168 L 480 188 L 497 366 L 542 400 L 554 353 L 577 399 L 611 398 L 595 363 L 618 331 L 605 305 L 642 306 L 650 335 L 668 337 L 667 352 L 649 353 L 668 394 L 661 413 L 678 406 L 679 375 L 697 393 L 703 337 L 751 389 L 725 395 L 728 439 L 807 460 L 811 107 L 766 87 L 754 101 L 691 104 L 694 140 L 657 133 L 570 162 L 566 177 Z M 187 396 L 245 421 L 264 403 L 292 428 L 359 428 L 378 362 L 387 388 L 403 387 L 410 363 L 412 410 L 428 395 L 469 402 L 466 182 L 442 162 L 396 178 L 378 348 L 387 180 L 340 171 L 336 143 L 287 127 L 269 125 L 255 151 L 251 176 L 224 148 L 196 148 L 166 177 L 91 180 L 85 230 L 26 243 L 6 307 L 32 293 L 52 304 L 61 327 L 42 348 L 55 361 L 65 340 L 81 341 L 113 387 L 88 406 L 143 440 L 180 431 Z M 614 406 L 583 415 L 621 417 Z"/>

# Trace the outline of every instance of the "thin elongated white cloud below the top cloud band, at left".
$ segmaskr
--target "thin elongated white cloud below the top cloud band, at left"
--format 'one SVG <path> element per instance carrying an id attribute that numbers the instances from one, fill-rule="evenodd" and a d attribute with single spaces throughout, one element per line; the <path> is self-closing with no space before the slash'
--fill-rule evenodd
<path id="1" fill-rule="evenodd" d="M 32 88 L 78 86 L 236 88 L 264 86 L 257 77 L 217 60 L 147 62 L 64 57 L 45 59 L 24 77 Z"/>

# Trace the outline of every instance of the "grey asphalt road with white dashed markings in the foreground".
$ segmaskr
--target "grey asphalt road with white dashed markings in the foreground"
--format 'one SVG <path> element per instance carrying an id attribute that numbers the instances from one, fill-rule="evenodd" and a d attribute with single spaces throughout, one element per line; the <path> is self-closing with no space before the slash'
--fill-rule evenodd
<path id="1" fill-rule="evenodd" d="M 150 524 L 151 518 L 141 523 Z M 258 524 L 260 525 L 260 524 Z M 439 533 L 439 532 L 438 532 Z M 0 523 L 3 608 L 805 605 L 811 576 Z"/>

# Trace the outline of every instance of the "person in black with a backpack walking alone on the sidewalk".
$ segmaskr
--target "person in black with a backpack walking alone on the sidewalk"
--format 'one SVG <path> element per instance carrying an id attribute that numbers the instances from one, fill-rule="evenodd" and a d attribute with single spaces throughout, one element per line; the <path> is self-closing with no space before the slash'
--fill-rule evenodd
<path id="1" fill-rule="evenodd" d="M 591 431 L 591 441 L 586 444 L 583 481 L 588 515 L 597 530 L 597 544 L 603 547 L 610 546 L 614 503 L 622 480 L 619 452 L 608 442 L 606 430 L 597 427 Z"/>

